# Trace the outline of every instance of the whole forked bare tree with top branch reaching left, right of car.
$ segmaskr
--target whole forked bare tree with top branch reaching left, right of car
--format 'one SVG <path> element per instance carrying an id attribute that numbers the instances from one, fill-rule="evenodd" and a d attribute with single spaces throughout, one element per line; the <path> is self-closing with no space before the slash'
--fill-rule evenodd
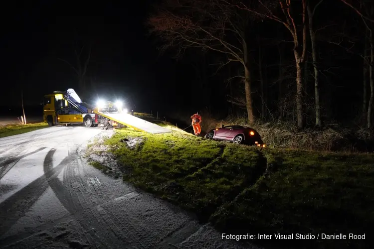
<path id="1" fill-rule="evenodd" d="M 263 0 L 255 1 L 258 4 L 247 5 L 240 0 L 222 0 L 223 2 L 230 2 L 238 9 L 247 10 L 262 18 L 271 19 L 281 23 L 291 33 L 294 44 L 294 57 L 296 64 L 296 106 L 297 106 L 297 126 L 303 128 L 305 126 L 304 108 L 303 108 L 303 67 L 305 63 L 306 47 L 307 47 L 307 0 L 302 0 L 301 13 L 295 11 L 295 3 L 291 0 L 269 0 L 266 3 Z M 253 6 L 256 5 L 256 6 Z M 278 16 L 275 12 L 276 8 L 280 8 L 283 13 L 283 18 Z M 297 20 L 298 15 L 302 16 L 302 20 Z M 298 26 L 302 26 L 302 32 Z"/>

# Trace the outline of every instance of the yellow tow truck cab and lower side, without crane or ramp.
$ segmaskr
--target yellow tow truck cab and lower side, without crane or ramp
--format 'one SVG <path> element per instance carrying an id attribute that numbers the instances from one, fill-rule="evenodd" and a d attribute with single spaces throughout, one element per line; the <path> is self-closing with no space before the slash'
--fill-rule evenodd
<path id="1" fill-rule="evenodd" d="M 93 110 L 87 109 L 87 114 L 76 110 L 65 98 L 65 92 L 53 92 L 44 96 L 43 120 L 52 126 L 54 124 L 82 124 L 85 116 L 95 120 Z M 94 124 L 92 124 L 94 125 Z"/>

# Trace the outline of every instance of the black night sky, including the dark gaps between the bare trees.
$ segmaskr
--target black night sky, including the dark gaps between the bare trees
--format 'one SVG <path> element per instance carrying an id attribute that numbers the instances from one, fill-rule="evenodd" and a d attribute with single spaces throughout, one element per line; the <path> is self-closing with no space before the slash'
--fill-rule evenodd
<path id="1" fill-rule="evenodd" d="M 177 63 L 170 57 L 171 53 L 160 56 L 156 49 L 155 37 L 147 35 L 144 22 L 150 13 L 151 4 L 155 1 L 157 0 L 42 0 L 12 1 L 7 4 L 7 8 L 4 8 L 5 14 L 0 17 L 0 107 L 20 106 L 21 89 L 24 92 L 25 105 L 38 105 L 42 96 L 52 91 L 77 89 L 78 79 L 73 70 L 58 58 L 73 63 L 74 43 L 90 41 L 92 56 L 88 76 L 94 82 L 95 87 L 90 90 L 96 97 L 84 99 L 85 102 L 93 103 L 97 97 L 108 100 L 121 98 L 136 104 L 137 111 L 166 111 L 168 108 L 174 108 L 173 111 L 185 109 L 188 112 L 195 112 L 194 108 L 204 109 L 200 100 L 206 93 L 194 87 L 196 72 L 188 59 Z M 331 19 L 345 20 L 351 13 L 348 7 L 341 7 L 340 11 L 334 13 L 337 16 Z M 321 7 L 318 13 L 321 16 L 330 16 L 330 9 L 331 6 L 326 5 Z M 280 28 L 285 37 L 289 37 L 284 27 L 274 24 L 270 21 L 265 29 Z M 319 24 L 318 21 L 316 24 Z M 351 23 L 354 27 L 353 24 Z M 257 28 L 260 29 L 262 26 Z M 274 37 L 273 32 L 268 33 Z M 337 75 L 326 73 L 327 76 L 323 76 L 325 78 L 322 81 L 337 85 L 329 91 L 335 92 L 335 95 L 339 95 L 339 99 L 343 100 L 342 103 L 338 103 L 336 97 L 331 103 L 337 103 L 335 109 L 342 112 L 347 111 L 338 108 L 342 105 L 356 109 L 356 106 L 347 100 L 360 96 L 352 97 L 352 91 L 347 89 L 350 89 L 352 82 L 361 81 L 357 79 L 357 75 L 362 76 L 360 56 L 347 57 L 344 50 L 325 47 L 326 42 L 319 45 L 324 63 L 329 64 L 326 67 L 335 68 L 334 73 Z M 273 56 L 273 52 L 267 51 L 269 63 L 272 64 L 278 60 Z M 289 52 L 291 47 L 285 51 L 291 56 L 292 53 Z M 186 52 L 186 57 L 194 56 L 192 50 Z M 209 55 L 206 57 L 210 58 Z M 209 79 L 213 86 L 218 77 Z M 322 93 L 327 93 L 323 84 L 321 82 Z M 209 91 L 216 89 L 218 88 L 211 87 Z M 82 95 L 77 92 L 78 95 Z M 223 105 L 227 105 L 225 93 L 223 97 L 222 93 L 213 94 L 215 109 L 218 110 L 218 106 L 221 105 L 222 110 Z"/>

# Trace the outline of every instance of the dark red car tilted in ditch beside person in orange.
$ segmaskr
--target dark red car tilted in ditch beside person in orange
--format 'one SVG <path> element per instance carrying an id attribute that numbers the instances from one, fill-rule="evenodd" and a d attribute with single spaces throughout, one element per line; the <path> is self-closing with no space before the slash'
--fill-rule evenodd
<path id="1" fill-rule="evenodd" d="M 265 147 L 260 134 L 255 129 L 241 125 L 222 125 L 221 128 L 206 133 L 205 138 Z"/>

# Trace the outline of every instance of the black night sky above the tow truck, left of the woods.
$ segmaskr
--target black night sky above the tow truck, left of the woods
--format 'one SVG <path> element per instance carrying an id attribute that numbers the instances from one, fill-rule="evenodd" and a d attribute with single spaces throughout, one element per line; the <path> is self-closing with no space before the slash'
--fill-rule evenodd
<path id="1" fill-rule="evenodd" d="M 165 94 L 172 101 L 175 96 L 166 92 L 175 80 L 174 63 L 159 57 L 144 26 L 151 1 L 12 3 L 2 21 L 0 106 L 19 105 L 21 89 L 32 105 L 51 91 L 75 88 L 73 71 L 57 58 L 73 63 L 78 39 L 93 42 L 89 76 L 98 96 L 131 97 L 144 109 L 160 104 Z"/>

